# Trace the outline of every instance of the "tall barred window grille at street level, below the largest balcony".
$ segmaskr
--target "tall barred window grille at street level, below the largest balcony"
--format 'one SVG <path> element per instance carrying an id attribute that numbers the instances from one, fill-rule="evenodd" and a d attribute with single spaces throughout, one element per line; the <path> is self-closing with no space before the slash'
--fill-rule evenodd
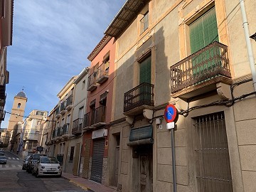
<path id="1" fill-rule="evenodd" d="M 233 191 L 223 112 L 194 118 L 197 191 Z"/>

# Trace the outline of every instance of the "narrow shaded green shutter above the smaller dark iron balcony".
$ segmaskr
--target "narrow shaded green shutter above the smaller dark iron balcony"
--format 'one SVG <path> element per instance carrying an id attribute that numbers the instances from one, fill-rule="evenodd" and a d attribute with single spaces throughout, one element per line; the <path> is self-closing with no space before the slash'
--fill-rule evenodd
<path id="1" fill-rule="evenodd" d="M 139 84 L 151 83 L 151 56 L 139 63 Z"/>

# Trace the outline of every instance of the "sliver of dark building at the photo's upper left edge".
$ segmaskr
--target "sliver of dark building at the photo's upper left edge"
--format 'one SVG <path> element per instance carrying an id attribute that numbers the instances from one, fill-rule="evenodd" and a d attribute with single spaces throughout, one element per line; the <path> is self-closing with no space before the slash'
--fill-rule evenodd
<path id="1" fill-rule="evenodd" d="M 14 0 L 2 0 L 0 4 L 0 124 L 4 120 L 6 84 L 9 83 L 7 70 L 7 47 L 12 45 Z"/>

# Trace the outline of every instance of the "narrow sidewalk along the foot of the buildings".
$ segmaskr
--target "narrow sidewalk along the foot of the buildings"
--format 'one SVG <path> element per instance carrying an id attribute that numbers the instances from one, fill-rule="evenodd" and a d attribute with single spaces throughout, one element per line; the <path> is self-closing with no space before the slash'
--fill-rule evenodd
<path id="1" fill-rule="evenodd" d="M 66 174 L 66 173 L 62 173 L 62 176 L 70 180 L 70 182 L 75 183 L 77 186 L 80 186 L 85 190 L 89 190 L 92 192 L 116 192 L 116 190 L 114 190 L 113 188 L 106 187 L 100 183 L 90 181 L 86 178 L 73 176 L 72 174 Z"/>

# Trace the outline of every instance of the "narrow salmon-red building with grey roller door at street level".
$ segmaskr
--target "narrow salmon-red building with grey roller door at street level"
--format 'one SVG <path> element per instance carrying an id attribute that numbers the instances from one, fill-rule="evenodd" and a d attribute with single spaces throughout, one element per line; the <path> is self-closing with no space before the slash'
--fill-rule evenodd
<path id="1" fill-rule="evenodd" d="M 114 38 L 104 36 L 92 53 L 84 117 L 84 164 L 82 176 L 108 185 L 108 132 L 114 85 Z"/>

